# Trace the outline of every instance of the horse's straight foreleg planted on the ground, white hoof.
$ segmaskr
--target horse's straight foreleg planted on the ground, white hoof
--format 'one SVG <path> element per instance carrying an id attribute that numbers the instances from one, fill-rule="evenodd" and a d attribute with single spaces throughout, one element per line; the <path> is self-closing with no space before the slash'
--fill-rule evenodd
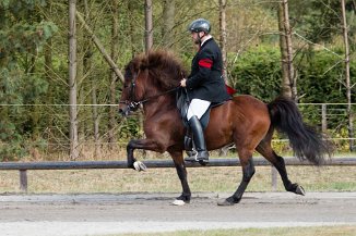
<path id="1" fill-rule="evenodd" d="M 191 191 L 188 185 L 188 179 L 187 179 L 187 169 L 186 169 L 186 164 L 183 162 L 183 158 L 182 158 L 182 153 L 181 151 L 177 151 L 177 152 L 169 152 L 174 162 L 175 162 L 175 166 L 176 166 L 176 171 L 178 174 L 178 177 L 180 179 L 180 184 L 182 187 L 182 192 L 181 195 L 176 198 L 176 200 L 173 202 L 173 204 L 177 204 L 177 206 L 182 206 L 185 203 L 189 203 L 190 202 L 190 198 L 191 198 Z"/>

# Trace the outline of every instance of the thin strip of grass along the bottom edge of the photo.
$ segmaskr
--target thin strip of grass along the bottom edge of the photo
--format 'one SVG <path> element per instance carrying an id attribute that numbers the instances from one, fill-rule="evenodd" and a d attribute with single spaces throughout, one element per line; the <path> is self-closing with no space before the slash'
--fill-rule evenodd
<path id="1" fill-rule="evenodd" d="M 110 236 L 355 236 L 356 226 L 274 227 L 165 233 L 119 234 Z M 104 235 L 100 235 L 104 236 Z M 105 235 L 109 236 L 109 235 Z"/>

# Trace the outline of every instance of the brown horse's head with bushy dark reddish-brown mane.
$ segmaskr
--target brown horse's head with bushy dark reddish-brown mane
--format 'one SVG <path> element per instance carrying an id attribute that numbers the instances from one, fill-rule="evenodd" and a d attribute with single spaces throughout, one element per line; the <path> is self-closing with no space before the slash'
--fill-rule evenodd
<path id="1" fill-rule="evenodd" d="M 126 66 L 119 112 L 128 115 L 140 104 L 163 95 L 165 98 L 170 96 L 165 102 L 175 102 L 171 91 L 179 86 L 185 71 L 173 53 L 157 50 L 137 55 Z"/>

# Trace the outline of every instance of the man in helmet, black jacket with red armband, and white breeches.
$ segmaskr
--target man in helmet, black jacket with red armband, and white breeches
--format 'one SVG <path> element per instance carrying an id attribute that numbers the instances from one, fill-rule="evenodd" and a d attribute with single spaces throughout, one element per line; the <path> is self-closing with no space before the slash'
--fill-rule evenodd
<path id="1" fill-rule="evenodd" d="M 188 124 L 193 134 L 197 157 L 188 157 L 190 162 L 209 162 L 203 128 L 200 119 L 212 102 L 219 103 L 230 99 L 223 78 L 223 58 L 214 38 L 210 35 L 210 22 L 198 18 L 189 25 L 191 38 L 199 46 L 199 51 L 192 60 L 191 73 L 180 80 L 186 87 L 191 102 L 188 108 Z"/>

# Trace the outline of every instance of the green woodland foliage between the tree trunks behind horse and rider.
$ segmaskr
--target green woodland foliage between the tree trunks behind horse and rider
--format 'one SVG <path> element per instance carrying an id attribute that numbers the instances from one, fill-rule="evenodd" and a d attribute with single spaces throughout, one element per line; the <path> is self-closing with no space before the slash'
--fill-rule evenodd
<path id="1" fill-rule="evenodd" d="M 87 3 L 87 8 L 84 3 Z M 117 40 L 122 69 L 144 51 L 144 1 L 119 0 Z M 163 48 L 164 1 L 153 1 L 154 48 Z M 346 1 L 351 44 L 351 78 L 356 83 L 355 3 Z M 173 50 L 189 69 L 194 54 L 187 25 L 197 17 L 212 22 L 218 39 L 218 1 L 176 0 Z M 111 1 L 78 1 L 78 11 L 91 15 L 87 24 L 107 50 L 111 37 Z M 281 89 L 281 52 L 277 5 L 257 0 L 230 0 L 227 4 L 228 80 L 239 94 L 271 101 Z M 344 103 L 343 40 L 339 0 L 289 0 L 299 102 Z M 91 60 L 91 66 L 85 60 Z M 110 69 L 78 24 L 78 100 L 91 104 L 93 82 L 98 104 L 109 104 Z M 117 82 L 117 97 L 121 87 Z M 0 161 L 19 160 L 40 152 L 68 151 L 68 1 L 3 0 L 0 2 Z M 353 102 L 355 102 L 355 87 Z M 32 105 L 28 105 L 32 104 Z M 35 105 L 33 105 L 35 104 Z M 355 107 L 354 107 L 355 108 Z M 108 150 L 108 107 L 98 107 L 102 150 Z M 320 110 L 305 109 L 309 122 L 320 126 Z M 345 133 L 344 110 L 331 119 L 335 135 Z M 82 157 L 90 159 L 93 142 L 90 105 L 79 107 Z M 139 116 L 117 116 L 115 134 L 120 147 L 142 136 Z M 334 131 L 333 131 L 334 132 Z M 117 156 L 117 150 L 109 153 Z"/>

